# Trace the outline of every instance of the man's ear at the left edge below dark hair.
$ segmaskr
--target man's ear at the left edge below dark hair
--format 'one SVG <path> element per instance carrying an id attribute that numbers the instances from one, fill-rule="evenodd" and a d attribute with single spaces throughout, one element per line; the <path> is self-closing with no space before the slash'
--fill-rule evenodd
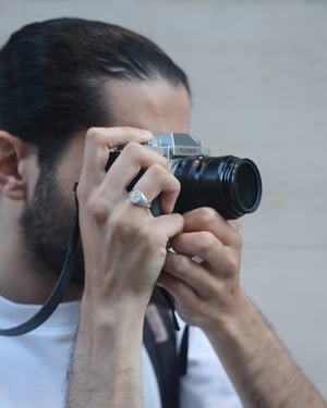
<path id="1" fill-rule="evenodd" d="M 0 193 L 12 200 L 26 197 L 26 180 L 20 162 L 26 154 L 26 144 L 0 129 Z"/>

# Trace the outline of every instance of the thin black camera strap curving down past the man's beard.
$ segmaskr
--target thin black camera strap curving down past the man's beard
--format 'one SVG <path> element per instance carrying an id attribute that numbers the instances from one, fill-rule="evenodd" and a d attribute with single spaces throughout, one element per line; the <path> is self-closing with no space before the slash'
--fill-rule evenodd
<path id="1" fill-rule="evenodd" d="M 75 209 L 73 222 L 72 222 L 71 230 L 70 230 L 70 237 L 69 237 L 69 244 L 66 248 L 65 260 L 64 260 L 57 284 L 51 295 L 47 299 L 47 301 L 40 307 L 40 309 L 31 319 L 28 319 L 26 322 L 19 324 L 14 327 L 0 329 L 1 336 L 20 336 L 22 334 L 32 332 L 34 329 L 41 325 L 53 313 L 53 311 L 57 309 L 58 305 L 62 300 L 71 281 L 72 270 L 73 270 L 72 256 L 74 252 L 76 242 L 80 236 L 78 202 L 76 198 L 76 186 L 77 185 L 75 184 L 74 191 L 75 191 L 76 209 Z"/>

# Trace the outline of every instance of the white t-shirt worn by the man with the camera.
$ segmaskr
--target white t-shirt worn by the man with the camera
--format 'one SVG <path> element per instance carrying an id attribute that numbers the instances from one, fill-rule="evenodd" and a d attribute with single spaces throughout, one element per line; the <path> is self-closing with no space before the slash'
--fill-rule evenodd
<path id="1" fill-rule="evenodd" d="M 0 297 L 0 327 L 29 319 L 35 305 Z M 31 333 L 0 336 L 0 407 L 64 407 L 80 301 L 61 304 Z M 144 408 L 160 408 L 156 375 L 145 348 L 143 355 Z M 191 327 L 187 374 L 181 384 L 181 408 L 241 408 L 242 405 L 201 330 Z"/>

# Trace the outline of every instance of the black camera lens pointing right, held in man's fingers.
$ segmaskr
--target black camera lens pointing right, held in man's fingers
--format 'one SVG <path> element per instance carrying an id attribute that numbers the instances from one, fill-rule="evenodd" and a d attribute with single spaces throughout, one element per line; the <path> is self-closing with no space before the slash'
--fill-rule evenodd
<path id="1" fill-rule="evenodd" d="M 234 156 L 187 157 L 173 168 L 181 183 L 174 211 L 211 207 L 227 220 L 254 212 L 262 198 L 262 180 L 255 163 Z"/>

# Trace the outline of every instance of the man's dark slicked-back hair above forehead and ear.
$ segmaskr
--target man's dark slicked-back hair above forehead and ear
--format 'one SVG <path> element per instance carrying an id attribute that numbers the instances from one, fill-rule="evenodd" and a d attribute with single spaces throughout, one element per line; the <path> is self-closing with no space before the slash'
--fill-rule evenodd
<path id="1" fill-rule="evenodd" d="M 110 79 L 190 87 L 154 42 L 117 25 L 57 18 L 26 25 L 0 50 L 0 128 L 57 157 L 70 136 L 110 125 Z"/>

